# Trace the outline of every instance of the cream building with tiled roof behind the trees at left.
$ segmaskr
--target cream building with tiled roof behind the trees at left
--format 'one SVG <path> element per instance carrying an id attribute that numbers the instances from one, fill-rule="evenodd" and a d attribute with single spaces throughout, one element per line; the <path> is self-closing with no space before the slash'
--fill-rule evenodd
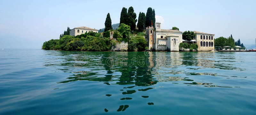
<path id="1" fill-rule="evenodd" d="M 70 30 L 69 35 L 77 36 L 77 35 L 81 35 L 81 34 L 84 34 L 84 33 L 88 33 L 90 31 L 98 33 L 98 30 L 95 29 L 95 28 L 92 29 L 92 28 L 89 28 L 89 27 L 82 26 L 82 27 L 76 27 L 76 28 Z"/>

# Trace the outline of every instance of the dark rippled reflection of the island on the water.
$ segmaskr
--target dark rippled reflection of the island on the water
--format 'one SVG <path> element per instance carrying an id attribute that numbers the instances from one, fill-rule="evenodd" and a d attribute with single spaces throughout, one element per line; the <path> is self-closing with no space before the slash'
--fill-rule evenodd
<path id="1" fill-rule="evenodd" d="M 203 80 L 198 79 L 197 76 L 234 77 L 234 75 L 221 75 L 216 70 L 244 70 L 234 66 L 235 56 L 226 56 L 221 53 L 216 56 L 214 52 L 60 51 L 57 54 L 50 52 L 49 55 L 57 55 L 60 63 L 50 61 L 46 62 L 45 66 L 60 66 L 63 68 L 58 68 L 58 70 L 72 74 L 67 77 L 67 80 L 58 83 L 95 81 L 106 85 L 129 85 L 118 89 L 121 90 L 120 94 L 125 96 L 118 99 L 124 102 L 132 100 L 130 95 L 136 95 L 137 92 L 156 89 L 154 85 L 159 82 L 172 82 L 173 85 L 232 88 L 214 85 L 214 81 L 203 83 Z M 207 72 L 204 69 L 207 69 Z M 113 97 L 111 92 L 105 95 L 109 98 Z M 147 95 L 141 97 L 149 98 Z M 148 105 L 154 105 L 154 103 L 149 102 Z M 125 111 L 128 107 L 128 104 L 119 105 L 116 111 Z M 109 110 L 105 108 L 104 111 Z"/>

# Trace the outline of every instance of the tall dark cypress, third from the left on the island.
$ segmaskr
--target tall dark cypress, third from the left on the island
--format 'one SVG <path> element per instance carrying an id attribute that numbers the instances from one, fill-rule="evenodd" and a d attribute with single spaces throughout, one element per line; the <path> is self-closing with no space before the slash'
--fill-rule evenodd
<path id="1" fill-rule="evenodd" d="M 127 13 L 127 25 L 130 25 L 131 30 L 135 30 L 136 27 L 136 13 L 134 13 L 133 7 L 129 7 L 128 13 Z"/>

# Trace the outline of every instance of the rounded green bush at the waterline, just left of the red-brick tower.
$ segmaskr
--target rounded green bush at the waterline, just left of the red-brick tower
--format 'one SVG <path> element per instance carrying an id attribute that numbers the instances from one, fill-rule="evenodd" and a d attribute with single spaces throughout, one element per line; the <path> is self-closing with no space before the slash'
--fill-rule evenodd
<path id="1" fill-rule="evenodd" d="M 147 41 L 143 36 L 132 36 L 128 42 L 128 51 L 144 51 L 147 47 Z"/>

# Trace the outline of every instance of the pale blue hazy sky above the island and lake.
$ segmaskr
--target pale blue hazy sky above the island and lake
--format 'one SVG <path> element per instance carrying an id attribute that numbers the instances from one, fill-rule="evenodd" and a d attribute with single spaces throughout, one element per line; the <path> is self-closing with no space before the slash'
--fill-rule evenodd
<path id="1" fill-rule="evenodd" d="M 80 26 L 104 28 L 108 13 L 119 23 L 123 7 L 139 12 L 155 9 L 163 29 L 200 31 L 228 37 L 246 45 L 255 44 L 255 0 L 1 0 L 0 48 L 41 48 L 44 41 Z"/>

